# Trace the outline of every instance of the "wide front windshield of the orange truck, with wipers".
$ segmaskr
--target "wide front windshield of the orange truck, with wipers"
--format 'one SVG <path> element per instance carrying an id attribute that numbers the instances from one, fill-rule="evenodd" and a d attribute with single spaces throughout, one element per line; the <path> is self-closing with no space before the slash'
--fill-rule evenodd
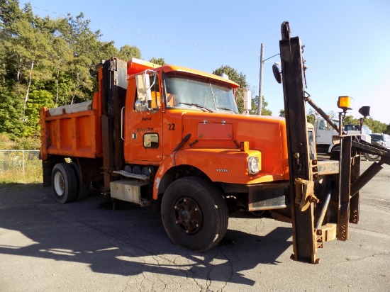
<path id="1" fill-rule="evenodd" d="M 163 74 L 163 82 L 168 108 L 238 113 L 233 89 L 228 84 L 179 72 Z"/>

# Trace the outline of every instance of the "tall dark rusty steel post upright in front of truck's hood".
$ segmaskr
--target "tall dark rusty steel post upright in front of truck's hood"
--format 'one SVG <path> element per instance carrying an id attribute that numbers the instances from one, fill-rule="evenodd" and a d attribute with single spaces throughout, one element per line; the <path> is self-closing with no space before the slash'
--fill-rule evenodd
<path id="1" fill-rule="evenodd" d="M 290 38 L 289 31 L 289 23 L 282 23 L 282 40 L 279 42 L 279 47 L 282 61 L 284 111 L 289 150 L 294 245 L 292 258 L 301 262 L 317 263 L 313 203 L 310 203 L 310 206 L 304 211 L 296 203 L 295 179 L 301 178 L 311 181 L 313 178 L 306 121 L 302 45 L 299 38 Z M 316 159 L 316 157 L 314 158 Z"/>

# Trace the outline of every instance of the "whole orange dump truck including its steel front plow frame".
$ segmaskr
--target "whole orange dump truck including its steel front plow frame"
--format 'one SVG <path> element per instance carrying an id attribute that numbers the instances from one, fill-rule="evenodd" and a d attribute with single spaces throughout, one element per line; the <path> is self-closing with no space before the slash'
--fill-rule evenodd
<path id="1" fill-rule="evenodd" d="M 318 262 L 323 242 L 348 239 L 349 223 L 359 221 L 359 190 L 390 164 L 390 151 L 345 135 L 313 103 L 301 40 L 290 37 L 287 22 L 279 46 L 282 73 L 273 71 L 286 118 L 239 114 L 243 96 L 229 79 L 107 60 L 92 101 L 40 111 L 44 186 L 60 203 L 87 198 L 92 184 L 114 203 L 155 205 L 172 241 L 195 251 L 218 244 L 231 210 L 269 210 L 292 224 L 293 258 Z M 306 103 L 338 133 L 330 159 L 317 158 Z M 350 97 L 340 96 L 338 106 L 345 116 Z M 369 107 L 360 113 L 368 116 Z M 381 157 L 362 175 L 361 153 Z"/>

